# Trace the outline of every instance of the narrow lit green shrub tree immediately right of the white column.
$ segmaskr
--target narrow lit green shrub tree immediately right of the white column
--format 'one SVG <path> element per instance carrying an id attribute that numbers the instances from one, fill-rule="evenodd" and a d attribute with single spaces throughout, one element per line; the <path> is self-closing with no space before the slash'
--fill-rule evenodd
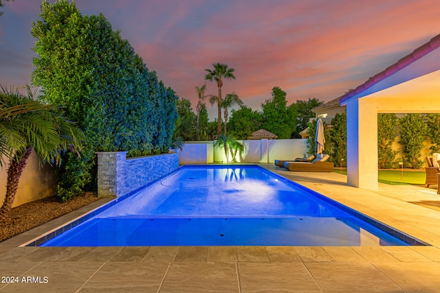
<path id="1" fill-rule="evenodd" d="M 377 114 L 377 156 L 380 169 L 395 167 L 397 152 L 393 150 L 393 142 L 397 137 L 399 119 L 395 114 Z"/>

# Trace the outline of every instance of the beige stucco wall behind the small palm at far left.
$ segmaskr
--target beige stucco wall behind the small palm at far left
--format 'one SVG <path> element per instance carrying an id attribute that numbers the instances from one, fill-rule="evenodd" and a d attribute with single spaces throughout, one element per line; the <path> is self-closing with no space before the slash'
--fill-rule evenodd
<path id="1" fill-rule="evenodd" d="M 0 168 L 0 204 L 3 204 L 5 199 L 7 171 L 8 161 L 3 165 L 3 168 Z M 56 181 L 53 167 L 49 164 L 40 167 L 36 154 L 32 152 L 21 174 L 19 188 L 12 207 L 54 195 L 56 195 Z"/>

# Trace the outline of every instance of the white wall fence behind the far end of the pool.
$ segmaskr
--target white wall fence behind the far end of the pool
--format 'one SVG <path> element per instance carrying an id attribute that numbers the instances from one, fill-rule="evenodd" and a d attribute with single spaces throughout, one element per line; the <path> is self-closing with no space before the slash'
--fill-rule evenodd
<path id="1" fill-rule="evenodd" d="M 300 158 L 307 152 L 307 139 L 243 140 L 245 150 L 236 154 L 239 163 L 274 163 L 276 159 Z M 179 152 L 179 164 L 226 163 L 223 148 L 214 147 L 212 141 L 188 141 Z M 229 158 L 229 162 L 232 158 Z"/>

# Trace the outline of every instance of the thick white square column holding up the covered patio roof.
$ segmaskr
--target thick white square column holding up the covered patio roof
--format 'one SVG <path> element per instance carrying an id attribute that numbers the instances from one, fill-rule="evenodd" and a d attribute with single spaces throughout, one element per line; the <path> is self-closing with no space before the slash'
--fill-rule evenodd
<path id="1" fill-rule="evenodd" d="M 369 99 L 347 102 L 347 184 L 377 189 L 377 109 Z"/>

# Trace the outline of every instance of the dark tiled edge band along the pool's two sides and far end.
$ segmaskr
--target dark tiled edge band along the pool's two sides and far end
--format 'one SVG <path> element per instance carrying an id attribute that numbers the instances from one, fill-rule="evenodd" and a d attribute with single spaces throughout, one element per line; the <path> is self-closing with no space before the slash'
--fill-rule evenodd
<path id="1" fill-rule="evenodd" d="M 332 198 L 329 198 L 328 196 L 325 196 L 323 194 L 318 193 L 317 191 L 314 191 L 313 189 L 309 189 L 308 187 L 305 187 L 304 185 L 300 185 L 296 183 L 294 180 L 291 180 L 289 178 L 286 178 L 285 176 L 278 174 L 267 167 L 264 167 L 259 164 L 210 164 L 210 166 L 219 166 L 219 167 L 225 167 L 228 165 L 245 165 L 245 166 L 255 166 L 263 169 L 265 172 L 268 172 L 272 174 L 273 176 L 276 176 L 278 178 L 281 178 L 282 180 L 287 181 L 289 184 L 293 184 L 296 187 L 299 187 L 300 189 L 303 189 L 317 198 L 320 198 L 321 200 L 325 200 L 325 202 L 328 202 L 329 204 L 333 204 L 334 206 L 338 207 L 339 209 L 342 209 L 342 211 L 345 211 L 351 215 L 353 215 L 355 218 L 358 218 L 368 224 L 371 224 L 375 228 L 380 229 L 381 231 L 384 231 L 385 233 L 388 233 L 388 235 L 392 235 L 393 237 L 396 237 L 397 239 L 400 239 L 401 241 L 405 242 L 406 244 L 409 244 L 410 246 L 430 246 L 431 244 L 428 244 L 427 242 L 422 241 L 421 239 L 418 239 L 417 237 L 414 237 L 412 235 L 409 235 L 407 233 L 404 233 L 403 231 L 399 231 L 399 229 L 394 228 L 391 225 L 385 224 L 384 222 L 381 222 L 380 220 L 376 220 L 369 215 L 366 215 L 360 211 L 357 211 L 351 207 L 348 207 L 345 204 L 342 204 L 336 200 L 333 200 Z M 192 167 L 192 166 L 199 166 L 199 165 L 181 165 L 179 166 L 179 169 L 181 167 Z M 179 172 L 179 169 L 170 172 L 169 174 L 162 176 L 161 178 L 157 178 L 156 180 L 153 180 L 151 183 L 148 183 L 134 191 L 129 192 L 129 194 L 125 194 L 124 196 L 120 196 L 118 198 L 114 198 L 113 200 L 106 202 L 102 204 L 100 207 L 96 207 L 95 209 L 92 209 L 91 211 L 87 211 L 86 213 L 83 213 L 82 215 L 78 215 L 78 217 L 69 220 L 68 222 L 65 222 L 65 224 L 61 224 L 60 226 L 57 226 L 56 228 L 52 228 L 50 231 L 47 231 L 45 233 L 42 233 L 39 236 L 33 237 L 27 242 L 24 242 L 23 244 L 19 245 L 19 247 L 25 247 L 25 246 L 31 246 L 31 247 L 39 247 L 41 244 L 49 241 L 50 239 L 64 233 L 65 231 L 69 231 L 70 229 L 74 228 L 75 226 L 78 226 L 79 224 L 82 224 L 83 222 L 86 222 L 90 218 L 93 218 L 98 213 L 104 211 L 105 209 L 109 209 L 109 207 L 112 207 L 113 205 L 117 204 L 118 202 L 121 202 L 122 200 L 125 200 L 126 198 L 129 198 L 130 196 L 133 196 L 140 190 L 153 185 L 159 180 L 162 180 L 166 176 L 170 176 L 173 173 Z M 52 221 L 51 221 L 52 222 Z M 49 223 L 47 223 L 49 224 Z M 43 225 L 44 226 L 44 225 Z M 8 241 L 8 240 L 5 240 Z M 0 243 L 1 246 L 1 243 Z"/>

